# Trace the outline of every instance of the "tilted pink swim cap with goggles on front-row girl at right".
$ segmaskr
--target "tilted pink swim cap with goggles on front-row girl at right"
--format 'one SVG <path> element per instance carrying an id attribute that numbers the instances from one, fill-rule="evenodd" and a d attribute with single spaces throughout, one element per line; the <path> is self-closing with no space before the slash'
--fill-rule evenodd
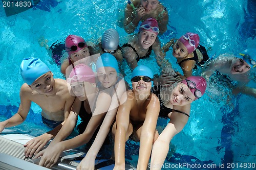
<path id="1" fill-rule="evenodd" d="M 201 98 L 207 86 L 205 79 L 201 76 L 190 76 L 182 80 L 181 83 L 187 85 L 189 90 L 195 95 L 196 100 Z"/>

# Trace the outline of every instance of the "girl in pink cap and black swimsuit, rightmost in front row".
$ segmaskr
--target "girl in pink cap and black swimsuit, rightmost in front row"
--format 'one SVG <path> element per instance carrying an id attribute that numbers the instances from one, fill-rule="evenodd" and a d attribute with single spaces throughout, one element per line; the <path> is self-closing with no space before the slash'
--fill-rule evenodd
<path id="1" fill-rule="evenodd" d="M 176 86 L 154 86 L 160 101 L 160 117 L 170 121 L 154 142 L 150 169 L 161 169 L 169 151 L 169 143 L 186 125 L 190 116 L 190 104 L 202 97 L 206 89 L 203 77 L 190 76 Z"/>

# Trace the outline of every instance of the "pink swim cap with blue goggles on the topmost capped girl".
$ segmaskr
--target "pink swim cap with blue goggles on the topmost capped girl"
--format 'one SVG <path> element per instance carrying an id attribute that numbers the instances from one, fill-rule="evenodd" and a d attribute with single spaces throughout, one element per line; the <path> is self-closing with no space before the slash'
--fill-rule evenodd
<path id="1" fill-rule="evenodd" d="M 142 30 L 150 31 L 158 35 L 159 27 L 158 27 L 157 20 L 155 18 L 147 18 L 140 25 L 139 32 L 141 32 Z"/>

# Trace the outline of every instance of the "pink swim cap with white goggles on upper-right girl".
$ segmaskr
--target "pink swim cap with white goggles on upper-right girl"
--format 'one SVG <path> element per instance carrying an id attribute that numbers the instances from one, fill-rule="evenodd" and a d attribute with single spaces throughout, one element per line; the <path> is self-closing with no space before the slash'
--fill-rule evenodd
<path id="1" fill-rule="evenodd" d="M 181 43 L 187 48 L 188 54 L 194 52 L 199 45 L 199 36 L 194 33 L 186 33 L 179 39 Z"/>

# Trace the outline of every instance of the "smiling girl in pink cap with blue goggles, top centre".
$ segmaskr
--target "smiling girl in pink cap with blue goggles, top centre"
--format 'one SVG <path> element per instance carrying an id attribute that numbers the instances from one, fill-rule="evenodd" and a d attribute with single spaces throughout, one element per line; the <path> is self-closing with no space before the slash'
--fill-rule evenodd
<path id="1" fill-rule="evenodd" d="M 159 27 L 155 18 L 147 18 L 141 23 L 139 33 L 133 36 L 128 43 L 122 46 L 122 55 L 127 64 L 134 69 L 140 59 L 150 57 L 154 51 L 157 64 L 162 69 L 171 68 L 169 63 L 163 64 L 163 57 L 160 55 L 160 41 L 157 38 Z"/>

